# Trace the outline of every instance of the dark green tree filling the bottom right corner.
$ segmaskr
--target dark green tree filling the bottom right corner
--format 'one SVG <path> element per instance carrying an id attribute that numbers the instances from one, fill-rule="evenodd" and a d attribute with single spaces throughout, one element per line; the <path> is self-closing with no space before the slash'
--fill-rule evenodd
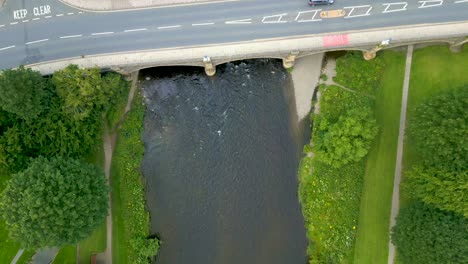
<path id="1" fill-rule="evenodd" d="M 392 242 L 403 264 L 468 263 L 468 219 L 416 201 L 400 210 Z"/>

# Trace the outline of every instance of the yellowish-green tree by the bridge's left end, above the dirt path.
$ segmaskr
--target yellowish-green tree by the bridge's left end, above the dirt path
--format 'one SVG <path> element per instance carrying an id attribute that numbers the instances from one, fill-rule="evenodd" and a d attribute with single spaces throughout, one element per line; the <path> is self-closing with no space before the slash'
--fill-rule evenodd
<path id="1" fill-rule="evenodd" d="M 57 94 L 63 100 L 63 111 L 76 120 L 100 117 L 106 112 L 124 80 L 118 74 L 101 76 L 98 68 L 81 69 L 70 65 L 52 77 Z"/>

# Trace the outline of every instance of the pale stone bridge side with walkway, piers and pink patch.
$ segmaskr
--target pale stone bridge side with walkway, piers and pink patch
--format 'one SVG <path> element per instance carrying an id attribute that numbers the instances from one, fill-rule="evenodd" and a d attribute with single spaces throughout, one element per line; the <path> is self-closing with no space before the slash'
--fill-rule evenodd
<path id="1" fill-rule="evenodd" d="M 277 58 L 283 60 L 285 68 L 290 68 L 296 58 L 328 51 L 359 50 L 365 59 L 372 59 L 382 49 L 421 43 L 446 43 L 450 50 L 459 52 L 467 42 L 468 22 L 457 22 L 80 56 L 28 66 L 43 74 L 51 74 L 68 64 L 122 74 L 157 66 L 200 66 L 211 76 L 216 73 L 216 65 L 237 60 Z"/>

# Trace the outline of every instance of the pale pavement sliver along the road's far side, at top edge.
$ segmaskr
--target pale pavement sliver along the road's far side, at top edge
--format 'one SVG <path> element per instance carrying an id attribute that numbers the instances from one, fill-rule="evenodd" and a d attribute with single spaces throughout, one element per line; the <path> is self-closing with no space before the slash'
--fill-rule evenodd
<path id="1" fill-rule="evenodd" d="M 0 0 L 0 6 L 2 1 Z M 59 0 L 60 2 L 88 11 L 121 11 L 129 9 L 155 8 L 171 5 L 187 5 L 219 0 Z"/>

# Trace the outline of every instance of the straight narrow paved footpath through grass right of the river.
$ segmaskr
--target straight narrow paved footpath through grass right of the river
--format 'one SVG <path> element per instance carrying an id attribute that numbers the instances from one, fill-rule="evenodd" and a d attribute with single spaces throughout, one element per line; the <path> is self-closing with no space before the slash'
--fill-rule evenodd
<path id="1" fill-rule="evenodd" d="M 392 194 L 392 211 L 390 214 L 390 228 L 395 226 L 395 218 L 398 214 L 399 199 L 400 199 L 400 180 L 401 180 L 401 165 L 403 160 L 403 140 L 405 137 L 406 124 L 406 105 L 408 103 L 408 87 L 411 71 L 411 61 L 413 58 L 413 45 L 408 46 L 406 52 L 405 79 L 403 81 L 403 94 L 401 98 L 400 110 L 400 129 L 398 131 L 397 157 L 395 162 L 395 177 L 393 179 L 393 194 Z M 389 233 L 390 234 L 390 233 Z M 395 261 L 395 246 L 392 241 L 388 240 L 388 264 L 393 264 Z"/>

